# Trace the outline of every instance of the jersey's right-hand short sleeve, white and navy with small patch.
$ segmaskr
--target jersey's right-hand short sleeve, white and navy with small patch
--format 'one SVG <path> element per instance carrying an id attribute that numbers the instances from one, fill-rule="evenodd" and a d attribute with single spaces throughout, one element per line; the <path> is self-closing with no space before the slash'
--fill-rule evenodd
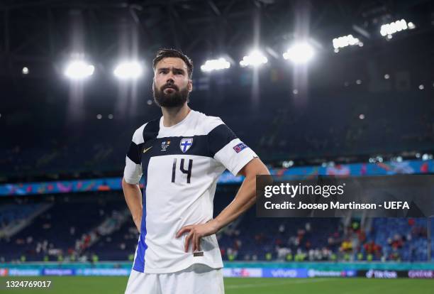
<path id="1" fill-rule="evenodd" d="M 238 175 L 250 160 L 257 157 L 223 122 L 209 132 L 208 147 L 213 158 L 233 175 Z"/>

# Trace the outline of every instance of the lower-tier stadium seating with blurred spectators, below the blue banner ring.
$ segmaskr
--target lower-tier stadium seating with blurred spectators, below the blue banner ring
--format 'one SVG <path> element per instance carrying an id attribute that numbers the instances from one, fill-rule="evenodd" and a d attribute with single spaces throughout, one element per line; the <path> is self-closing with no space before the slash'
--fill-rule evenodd
<path id="1" fill-rule="evenodd" d="M 214 214 L 228 205 L 235 192 L 235 185 L 218 187 Z M 133 258 L 138 232 L 129 214 L 125 220 L 120 220 L 119 215 L 127 211 L 122 192 L 26 199 L 26 205 L 18 203 L 16 198 L 1 200 L 4 226 L 12 219 L 25 218 L 43 205 L 50 205 L 50 208 L 17 234 L 0 238 L 0 260 L 91 260 L 97 256 L 99 261 L 124 261 Z M 250 209 L 218 233 L 218 242 L 223 259 L 230 261 L 426 261 L 428 258 L 427 219 L 372 219 L 363 237 L 360 237 L 363 232 L 360 230 L 365 228 L 357 225 L 355 229 L 345 229 L 343 221 L 338 218 L 257 218 L 255 210 Z M 98 229 L 101 226 L 104 232 Z M 431 227 L 434 229 L 433 222 Z M 359 236 L 359 241 L 356 240 L 350 250 L 343 249 L 343 242 L 352 240 L 351 234 Z M 380 246 L 381 252 L 369 259 L 365 244 L 372 241 Z"/>

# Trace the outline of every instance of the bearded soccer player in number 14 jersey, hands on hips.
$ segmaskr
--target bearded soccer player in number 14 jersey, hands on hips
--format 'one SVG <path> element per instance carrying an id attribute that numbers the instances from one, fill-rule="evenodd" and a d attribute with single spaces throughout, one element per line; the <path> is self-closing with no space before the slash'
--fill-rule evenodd
<path id="1" fill-rule="evenodd" d="M 189 108 L 193 65 L 186 55 L 160 50 L 153 69 L 162 117 L 135 131 L 122 181 L 140 232 L 126 293 L 224 293 L 216 232 L 255 203 L 256 175 L 269 171 L 220 118 Z M 216 183 L 226 169 L 245 180 L 213 219 Z"/>

